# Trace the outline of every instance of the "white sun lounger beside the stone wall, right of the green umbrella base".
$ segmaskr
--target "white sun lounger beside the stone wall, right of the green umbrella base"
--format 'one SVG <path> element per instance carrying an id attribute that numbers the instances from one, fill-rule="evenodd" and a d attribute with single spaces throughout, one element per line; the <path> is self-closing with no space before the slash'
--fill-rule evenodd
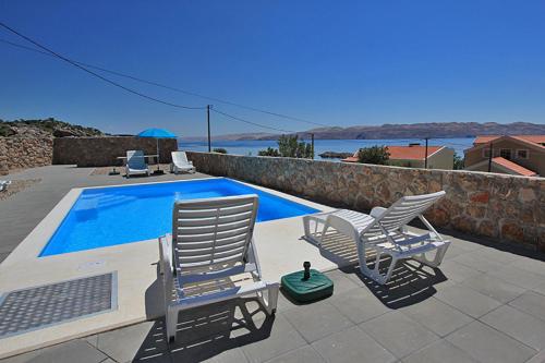
<path id="1" fill-rule="evenodd" d="M 450 242 L 444 240 L 422 214 L 444 195 L 441 191 L 403 196 L 389 208 L 373 208 L 370 215 L 347 209 L 308 215 L 303 218 L 305 238 L 319 245 L 328 228 L 352 238 L 358 245 L 362 274 L 383 285 L 391 277 L 399 259 L 413 258 L 432 267 L 441 263 Z M 426 226 L 428 233 L 416 234 L 407 229 L 407 225 L 416 217 Z M 367 252 L 376 253 L 373 268 L 367 266 Z M 433 259 L 427 258 L 428 252 L 435 252 Z M 379 271 L 383 255 L 391 257 L 386 274 Z"/>

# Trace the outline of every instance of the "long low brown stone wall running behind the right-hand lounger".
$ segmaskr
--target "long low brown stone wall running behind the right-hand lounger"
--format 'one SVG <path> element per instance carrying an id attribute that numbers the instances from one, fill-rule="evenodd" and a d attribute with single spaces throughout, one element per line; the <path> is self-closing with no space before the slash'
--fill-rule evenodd
<path id="1" fill-rule="evenodd" d="M 447 195 L 426 217 L 438 227 L 545 252 L 545 179 L 305 159 L 187 152 L 198 171 L 318 203 L 366 211 L 403 195 Z"/>

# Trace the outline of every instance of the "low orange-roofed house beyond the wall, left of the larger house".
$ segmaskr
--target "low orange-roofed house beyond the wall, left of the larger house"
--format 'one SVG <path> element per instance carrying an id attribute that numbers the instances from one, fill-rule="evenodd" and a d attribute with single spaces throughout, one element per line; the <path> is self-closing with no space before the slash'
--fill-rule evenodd
<path id="1" fill-rule="evenodd" d="M 408 168 L 425 168 L 426 147 L 420 144 L 409 146 L 387 146 L 390 154 L 389 164 Z M 358 152 L 342 159 L 344 162 L 358 162 Z M 451 170 L 455 164 L 455 150 L 445 146 L 427 147 L 427 168 Z"/>

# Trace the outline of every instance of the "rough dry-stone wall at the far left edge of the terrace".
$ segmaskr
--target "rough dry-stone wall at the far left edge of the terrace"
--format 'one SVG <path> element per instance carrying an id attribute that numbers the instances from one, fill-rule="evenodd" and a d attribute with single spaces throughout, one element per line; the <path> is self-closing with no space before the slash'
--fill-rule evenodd
<path id="1" fill-rule="evenodd" d="M 52 150 L 53 142 L 48 137 L 0 137 L 0 176 L 50 165 Z"/>

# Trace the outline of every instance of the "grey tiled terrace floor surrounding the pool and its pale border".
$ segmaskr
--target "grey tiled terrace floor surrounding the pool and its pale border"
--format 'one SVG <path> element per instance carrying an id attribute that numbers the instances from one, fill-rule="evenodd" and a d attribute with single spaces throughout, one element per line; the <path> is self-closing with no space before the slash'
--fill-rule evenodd
<path id="1" fill-rule="evenodd" d="M 71 187 L 193 177 L 90 172 L 53 166 L 10 176 L 41 181 L 0 201 L 0 258 Z M 280 295 L 271 318 L 252 299 L 196 308 L 171 347 L 159 319 L 1 362 L 545 362 L 545 263 L 445 234 L 452 245 L 440 269 L 405 263 L 385 287 L 342 268 L 328 273 L 332 297 L 296 305 Z M 352 244 L 331 240 L 323 254 L 353 258 Z"/>

